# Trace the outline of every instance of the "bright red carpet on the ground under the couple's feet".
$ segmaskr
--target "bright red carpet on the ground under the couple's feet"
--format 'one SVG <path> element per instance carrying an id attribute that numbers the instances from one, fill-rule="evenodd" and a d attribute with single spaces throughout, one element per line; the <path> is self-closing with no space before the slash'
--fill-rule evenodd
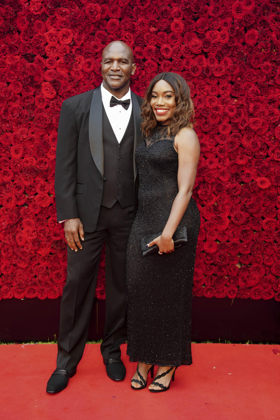
<path id="1" fill-rule="evenodd" d="M 280 346 L 193 344 L 193 365 L 178 368 L 169 391 L 133 391 L 105 374 L 99 344 L 88 344 L 77 374 L 59 394 L 45 392 L 57 346 L 0 346 L 2 420 L 280 420 Z M 150 381 L 150 379 L 149 379 Z M 149 383 L 149 382 L 148 382 Z"/>

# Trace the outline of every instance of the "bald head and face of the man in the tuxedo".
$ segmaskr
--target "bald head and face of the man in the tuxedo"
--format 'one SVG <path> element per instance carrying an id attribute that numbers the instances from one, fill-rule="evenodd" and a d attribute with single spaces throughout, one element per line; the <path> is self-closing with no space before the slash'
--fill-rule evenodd
<path id="1" fill-rule="evenodd" d="M 112 89 L 129 86 L 136 70 L 131 50 L 122 43 L 105 47 L 102 54 L 101 73 L 105 84 Z"/>

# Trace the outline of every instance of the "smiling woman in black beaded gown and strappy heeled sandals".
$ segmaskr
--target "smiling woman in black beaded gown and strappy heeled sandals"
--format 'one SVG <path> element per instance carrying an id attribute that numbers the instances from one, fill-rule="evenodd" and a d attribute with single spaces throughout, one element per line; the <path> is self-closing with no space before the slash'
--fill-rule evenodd
<path id="1" fill-rule="evenodd" d="M 127 252 L 128 346 L 139 362 L 133 389 L 147 385 L 157 365 L 152 392 L 167 391 L 175 369 L 191 365 L 191 297 L 199 210 L 192 196 L 199 161 L 199 141 L 192 129 L 194 113 L 186 81 L 175 73 L 152 79 L 142 105 L 146 139 L 135 155 L 139 172 L 139 206 Z M 186 226 L 188 241 L 174 250 L 173 234 Z M 158 252 L 142 256 L 141 239 Z"/>

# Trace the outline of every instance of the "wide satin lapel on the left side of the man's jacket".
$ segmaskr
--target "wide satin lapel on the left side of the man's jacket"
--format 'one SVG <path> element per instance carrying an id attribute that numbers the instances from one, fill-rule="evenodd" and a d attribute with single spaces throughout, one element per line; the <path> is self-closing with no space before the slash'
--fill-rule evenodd
<path id="1" fill-rule="evenodd" d="M 104 176 L 101 87 L 94 89 L 89 111 L 89 146 L 94 163 Z"/>

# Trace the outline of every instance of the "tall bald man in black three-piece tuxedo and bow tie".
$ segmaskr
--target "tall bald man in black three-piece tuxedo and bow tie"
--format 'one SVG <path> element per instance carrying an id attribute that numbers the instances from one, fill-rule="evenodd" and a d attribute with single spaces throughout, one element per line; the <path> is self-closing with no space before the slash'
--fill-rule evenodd
<path id="1" fill-rule="evenodd" d="M 102 53 L 101 86 L 65 100 L 58 125 L 55 196 L 64 221 L 67 278 L 60 307 L 57 368 L 47 392 L 76 374 L 86 344 L 99 259 L 106 240 L 106 317 L 101 344 L 110 379 L 123 380 L 126 245 L 137 197 L 134 151 L 141 142 L 141 98 L 130 91 L 133 53 L 114 41 Z"/>

